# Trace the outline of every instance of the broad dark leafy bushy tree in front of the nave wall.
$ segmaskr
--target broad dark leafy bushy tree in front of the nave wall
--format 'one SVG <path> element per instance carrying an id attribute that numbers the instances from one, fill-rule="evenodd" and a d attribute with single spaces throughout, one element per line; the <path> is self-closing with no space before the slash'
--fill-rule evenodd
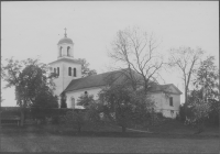
<path id="1" fill-rule="evenodd" d="M 111 85 L 103 89 L 99 95 L 99 103 L 102 105 L 105 116 L 122 127 L 122 132 L 127 131 L 131 122 L 143 123 L 154 105 L 146 99 L 144 91 L 133 91 L 125 85 Z"/>

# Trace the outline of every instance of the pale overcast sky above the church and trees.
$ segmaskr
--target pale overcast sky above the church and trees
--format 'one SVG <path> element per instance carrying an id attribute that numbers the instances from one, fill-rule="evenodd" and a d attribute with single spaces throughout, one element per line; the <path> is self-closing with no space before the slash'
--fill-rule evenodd
<path id="1" fill-rule="evenodd" d="M 119 30 L 139 26 L 154 33 L 158 51 L 172 47 L 201 47 L 219 64 L 218 1 L 9 1 L 1 2 L 1 56 L 41 62 L 57 59 L 57 43 L 74 41 L 74 57 L 86 58 L 98 74 L 109 70 L 111 42 Z M 178 72 L 162 72 L 165 82 L 184 91 Z M 3 89 L 2 106 L 15 106 L 14 89 Z M 182 95 L 182 102 L 184 94 Z"/>

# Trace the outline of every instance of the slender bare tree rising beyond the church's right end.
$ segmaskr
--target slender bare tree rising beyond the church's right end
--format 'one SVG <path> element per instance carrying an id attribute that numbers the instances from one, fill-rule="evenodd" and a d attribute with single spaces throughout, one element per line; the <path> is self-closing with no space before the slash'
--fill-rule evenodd
<path id="1" fill-rule="evenodd" d="M 190 47 L 172 48 L 169 56 L 169 66 L 180 70 L 185 87 L 185 102 L 188 102 L 188 90 L 193 75 L 196 73 L 196 65 L 204 54 L 201 48 L 193 50 Z"/>

